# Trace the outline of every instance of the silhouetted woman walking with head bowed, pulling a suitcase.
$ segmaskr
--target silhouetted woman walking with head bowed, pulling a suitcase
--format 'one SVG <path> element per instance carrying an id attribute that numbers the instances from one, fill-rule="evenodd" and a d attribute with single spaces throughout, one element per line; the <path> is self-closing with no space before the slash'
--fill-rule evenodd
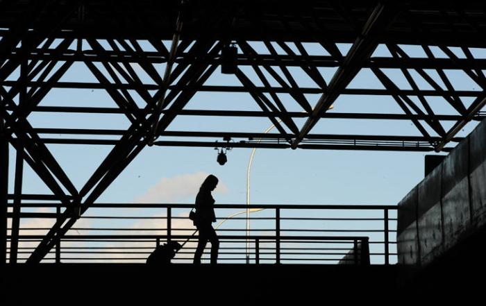
<path id="1" fill-rule="evenodd" d="M 199 230 L 199 241 L 196 253 L 194 253 L 194 264 L 201 264 L 201 256 L 208 241 L 211 243 L 211 264 L 217 263 L 219 239 L 211 224 L 216 222 L 215 199 L 211 196 L 211 192 L 215 190 L 216 185 L 218 185 L 217 177 L 210 174 L 204 180 L 196 196 L 196 219 L 194 220 L 194 225 Z"/>

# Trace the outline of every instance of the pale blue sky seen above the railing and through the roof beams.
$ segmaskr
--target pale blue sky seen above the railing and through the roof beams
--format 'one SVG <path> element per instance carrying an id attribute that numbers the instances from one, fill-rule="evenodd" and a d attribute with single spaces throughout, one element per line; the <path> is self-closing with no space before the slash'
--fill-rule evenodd
<path id="1" fill-rule="evenodd" d="M 103 44 L 103 42 L 101 42 Z M 140 42 L 144 49 L 152 51 L 149 44 Z M 166 45 L 169 42 L 165 42 Z M 106 44 L 103 44 L 106 45 Z M 89 46 L 83 44 L 87 49 Z M 252 43 L 253 48 L 261 53 L 267 52 L 262 44 Z M 290 44 L 292 48 L 295 47 Z M 424 52 L 417 46 L 402 46 L 410 57 L 423 57 Z M 305 44 L 308 53 L 326 55 L 324 49 L 317 44 Z M 278 52 L 281 52 L 276 46 Z M 343 53 L 349 49 L 349 44 L 341 44 Z M 438 48 L 432 48 L 437 57 L 444 54 Z M 461 51 L 453 49 L 460 57 Z M 484 58 L 485 52 L 471 49 L 474 56 Z M 374 56 L 389 56 L 385 46 L 379 46 Z M 96 82 L 83 64 L 74 65 L 61 81 Z M 102 69 L 101 65 L 97 65 Z M 150 83 L 148 76 L 142 73 L 140 67 L 134 65 L 140 73 L 140 78 Z M 156 65 L 160 75 L 163 75 L 165 65 Z M 103 69 L 102 69 L 103 70 Z M 261 85 L 251 67 L 242 67 L 255 85 Z M 278 70 L 278 68 L 277 68 Z M 290 69 L 299 86 L 315 87 L 312 80 L 305 76 L 301 69 Z M 319 69 L 328 82 L 335 69 Z M 410 89 L 400 71 L 383 70 L 392 78 L 397 86 Z M 427 71 L 443 88 L 435 71 Z M 451 83 L 457 90 L 481 90 L 468 76 L 460 71 L 445 71 Z M 429 85 L 414 71 L 411 71 L 420 88 L 431 89 Z M 16 71 L 9 79 L 16 79 Z M 272 83 L 272 82 L 271 82 Z M 275 82 L 273 82 L 275 83 Z M 206 82 L 206 85 L 240 85 L 235 76 L 223 75 L 219 69 Z M 349 88 L 383 88 L 378 79 L 369 69 L 363 69 L 351 82 Z M 144 102 L 134 94 L 141 107 Z M 301 111 L 301 107 L 289 95 L 280 94 L 280 99 L 290 111 Z M 319 95 L 306 96 L 312 105 Z M 412 100 L 417 101 L 416 97 Z M 430 105 L 437 114 L 456 114 L 455 110 L 441 97 L 428 97 Z M 469 105 L 472 99 L 463 98 Z M 52 90 L 40 105 L 64 106 L 101 106 L 115 107 L 115 103 L 103 90 Z M 201 92 L 187 104 L 186 109 L 215 110 L 260 110 L 249 94 L 216 94 Z M 379 112 L 403 113 L 391 96 L 340 96 L 329 112 Z M 35 128 L 112 128 L 125 129 L 129 121 L 123 114 L 56 114 L 37 112 L 28 120 Z M 301 127 L 304 120 L 297 119 Z M 447 130 L 453 122 L 444 124 Z M 269 119 L 258 118 L 222 118 L 214 117 L 179 117 L 169 126 L 168 130 L 204 130 L 204 131 L 241 131 L 262 133 L 271 122 Z M 458 136 L 467 135 L 476 123 L 473 121 L 460 132 Z M 428 130 L 432 132 L 430 128 Z M 411 121 L 368 121 L 346 119 L 321 119 L 312 129 L 312 133 L 322 134 L 362 134 L 362 135 L 420 135 Z M 56 137 L 49 135 L 47 137 Z M 208 139 L 211 140 L 211 139 Z M 212 139 L 219 140 L 221 139 Z M 74 185 L 81 189 L 87 178 L 91 176 L 99 163 L 110 151 L 111 146 L 80 146 L 52 144 L 49 149 L 65 169 Z M 213 148 L 180 148 L 180 147 L 146 147 L 137 158 L 121 173 L 115 182 L 97 202 L 133 203 L 157 186 L 160 180 L 174 182 L 173 189 L 180 188 L 175 196 L 167 198 L 167 190 L 160 190 L 159 201 L 174 203 L 193 203 L 194 195 L 184 189 L 194 189 L 200 184 L 194 180 L 188 181 L 192 187 L 181 180 L 197 178 L 200 173 L 213 173 L 221 181 L 221 187 L 216 190 L 217 203 L 239 203 L 246 201 L 246 167 L 251 149 L 235 148 L 228 151 L 228 162 L 220 166 L 216 162 L 217 151 Z M 424 156 L 426 153 L 412 152 L 373 152 L 373 151 L 314 151 L 297 149 L 292 151 L 278 149 L 258 149 L 253 161 L 251 172 L 251 203 L 260 204 L 380 204 L 396 205 L 414 185 L 424 178 Z M 15 153 L 10 151 L 10 192 L 13 192 L 13 164 Z M 199 173 L 199 174 L 198 174 Z M 192 188 L 192 189 L 191 189 Z M 221 192 L 221 190 L 223 192 Z M 24 170 L 24 189 L 29 193 L 49 193 L 44 183 L 26 166 Z M 166 196 L 166 197 L 165 197 Z M 155 201 L 155 200 L 154 200 Z M 89 211 L 88 211 L 89 212 Z M 160 212 L 158 212 L 160 213 Z M 219 216 L 221 213 L 219 212 Z M 109 223 L 103 223 L 109 226 Z"/>

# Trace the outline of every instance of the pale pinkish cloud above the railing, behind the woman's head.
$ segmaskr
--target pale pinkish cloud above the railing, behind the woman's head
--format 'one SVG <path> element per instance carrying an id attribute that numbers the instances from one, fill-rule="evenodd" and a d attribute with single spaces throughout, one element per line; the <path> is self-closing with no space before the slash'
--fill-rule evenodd
<path id="1" fill-rule="evenodd" d="M 202 182 L 208 173 L 196 172 L 174 176 L 172 178 L 160 178 L 160 180 L 149 187 L 149 190 L 142 196 L 138 196 L 134 203 L 174 203 L 182 198 L 196 197 Z M 215 192 L 226 193 L 228 187 L 224 182 L 219 181 Z"/>

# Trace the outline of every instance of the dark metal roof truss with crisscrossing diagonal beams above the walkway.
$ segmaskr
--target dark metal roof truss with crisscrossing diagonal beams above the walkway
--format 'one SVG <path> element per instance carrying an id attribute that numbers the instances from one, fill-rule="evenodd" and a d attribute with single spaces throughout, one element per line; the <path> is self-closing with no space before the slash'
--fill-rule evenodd
<path id="1" fill-rule="evenodd" d="M 146 146 L 215 147 L 222 145 L 216 139 L 231 137 L 236 141 L 225 146 L 450 151 L 451 143 L 462 139 L 456 137 L 458 132 L 484 117 L 486 60 L 475 58 L 471 48 L 486 48 L 485 31 L 483 1 L 470 0 L 301 0 L 298 5 L 274 0 L 0 1 L 2 169 L 8 165 L 6 144 L 17 153 L 10 261 L 15 262 L 17 254 L 24 162 L 53 197 L 69 207 L 28 259 L 40 262 Z M 170 48 L 162 41 L 171 41 Z M 207 85 L 221 65 L 221 50 L 231 42 L 240 48 L 234 74 L 240 85 Z M 267 52 L 255 49 L 253 42 Z M 310 54 L 308 43 L 319 44 L 323 54 Z M 347 53 L 340 43 L 351 44 Z M 410 56 L 403 44 L 419 46 L 426 56 Z M 374 56 L 378 46 L 385 46 L 391 56 Z M 433 48 L 445 56 L 435 56 Z M 83 64 L 97 81 L 62 81 L 75 64 Z M 157 65 L 165 65 L 164 74 Z M 319 71 L 323 67 L 337 69 L 330 80 Z M 300 86 L 294 69 L 313 85 Z M 383 89 L 349 88 L 363 69 L 371 71 Z M 396 85 L 387 69 L 401 74 L 410 88 Z M 446 74 L 449 70 L 462 71 L 478 90 L 457 90 Z M 428 89 L 419 85 L 417 76 Z M 117 107 L 40 105 L 59 88 L 105 90 Z M 185 108 L 198 92 L 246 93 L 258 110 Z M 308 94 L 318 94 L 317 103 L 313 105 Z M 302 112 L 287 110 L 282 95 Z M 403 112 L 327 112 L 344 95 L 388 96 Z M 432 98 L 442 99 L 455 114 L 437 114 Z M 465 99 L 473 101 L 468 105 Z M 29 122 L 33 112 L 119 114 L 130 125 L 124 130 L 99 130 L 89 124 L 42 128 Z M 181 116 L 267 118 L 278 133 L 169 130 Z M 331 119 L 410 121 L 417 135 L 312 133 L 319 121 Z M 446 122 L 452 127 L 444 128 Z M 64 136 L 49 137 L 53 134 Z M 78 190 L 47 144 L 110 145 L 112 150 Z M 0 199 L 6 203 L 3 172 Z"/>

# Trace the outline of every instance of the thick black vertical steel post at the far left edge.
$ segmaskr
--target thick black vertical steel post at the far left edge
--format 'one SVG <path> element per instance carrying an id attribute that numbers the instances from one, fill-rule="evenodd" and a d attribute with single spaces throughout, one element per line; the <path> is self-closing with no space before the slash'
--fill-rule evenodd
<path id="1" fill-rule="evenodd" d="M 1 103 L 1 99 L 0 99 Z M 8 141 L 3 134 L 3 119 L 0 119 L 0 265 L 7 262 L 7 199 L 8 199 Z"/>

